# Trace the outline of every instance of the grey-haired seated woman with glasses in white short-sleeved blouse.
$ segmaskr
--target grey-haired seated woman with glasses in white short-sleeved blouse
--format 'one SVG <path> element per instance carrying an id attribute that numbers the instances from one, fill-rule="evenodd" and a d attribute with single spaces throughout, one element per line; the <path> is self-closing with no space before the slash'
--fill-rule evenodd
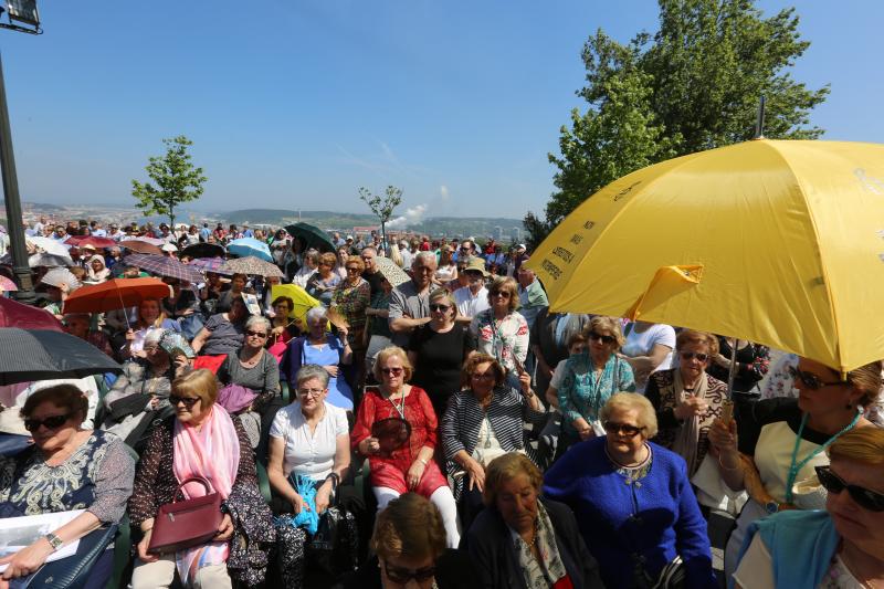
<path id="1" fill-rule="evenodd" d="M 350 467 L 347 414 L 325 402 L 328 372 L 322 366 L 302 366 L 295 382 L 297 401 L 280 409 L 270 429 L 267 476 L 295 514 L 304 508 L 304 499 L 288 476 L 293 472 L 309 476 L 316 484 L 316 511 L 323 513 Z"/>

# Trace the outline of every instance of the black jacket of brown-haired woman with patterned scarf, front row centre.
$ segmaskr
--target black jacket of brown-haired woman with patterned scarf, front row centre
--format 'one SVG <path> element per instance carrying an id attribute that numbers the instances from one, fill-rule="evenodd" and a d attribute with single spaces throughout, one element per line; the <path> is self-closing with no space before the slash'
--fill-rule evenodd
<path id="1" fill-rule="evenodd" d="M 556 545 L 565 570 L 573 586 L 583 589 L 602 588 L 599 565 L 577 530 L 571 509 L 555 501 L 540 498 L 556 530 Z M 518 564 L 509 528 L 501 513 L 487 507 L 476 517 L 470 532 L 461 539 L 476 569 L 474 587 L 483 589 L 525 589 L 525 577 Z"/>

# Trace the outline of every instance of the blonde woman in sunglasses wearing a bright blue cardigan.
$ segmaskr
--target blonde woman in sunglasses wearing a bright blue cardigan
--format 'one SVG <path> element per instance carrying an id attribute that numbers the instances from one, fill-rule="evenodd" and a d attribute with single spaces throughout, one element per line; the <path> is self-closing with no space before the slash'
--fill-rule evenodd
<path id="1" fill-rule="evenodd" d="M 599 417 L 606 435 L 571 446 L 546 473 L 544 495 L 573 509 L 606 587 L 680 576 L 690 588 L 716 587 L 684 459 L 648 441 L 657 430 L 651 402 L 618 392 Z"/>

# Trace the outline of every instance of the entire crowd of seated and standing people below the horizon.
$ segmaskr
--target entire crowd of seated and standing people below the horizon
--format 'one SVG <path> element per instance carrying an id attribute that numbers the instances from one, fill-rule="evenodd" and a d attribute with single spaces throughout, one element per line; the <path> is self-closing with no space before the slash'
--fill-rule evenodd
<path id="1" fill-rule="evenodd" d="M 3 516 L 85 509 L 0 559 L 3 579 L 124 516 L 134 588 L 860 587 L 882 571 L 881 362 L 771 366 L 751 341 L 558 313 L 527 248 L 493 239 L 313 249 L 248 225 L 45 218 L 27 233 L 71 260 L 33 267 L 41 306 L 122 371 L 0 388 L 0 442 L 28 440 L 0 460 Z M 243 239 L 278 272 L 187 253 Z M 66 312 L 84 285 L 150 274 L 131 241 L 200 280 L 155 271 L 168 296 Z M 164 550 L 179 487 L 217 492 L 223 516 Z"/>

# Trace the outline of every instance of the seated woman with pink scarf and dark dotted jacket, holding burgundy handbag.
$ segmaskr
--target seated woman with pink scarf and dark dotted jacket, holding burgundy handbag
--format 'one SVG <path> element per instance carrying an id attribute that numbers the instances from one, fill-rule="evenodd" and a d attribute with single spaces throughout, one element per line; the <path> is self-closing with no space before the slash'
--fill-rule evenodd
<path id="1" fill-rule="evenodd" d="M 169 403 L 175 419 L 154 430 L 135 476 L 129 498 L 133 527 L 144 534 L 131 578 L 134 589 L 169 587 L 176 572 L 183 587 L 229 588 L 229 540 L 233 523 L 225 514 L 209 544 L 175 554 L 151 555 L 154 518 L 171 503 L 181 481 L 200 476 L 227 499 L 238 485 L 256 485 L 252 446 L 239 418 L 214 403 L 218 382 L 209 370 L 194 370 L 172 382 Z M 206 495 L 201 484 L 183 487 L 187 498 Z"/>

